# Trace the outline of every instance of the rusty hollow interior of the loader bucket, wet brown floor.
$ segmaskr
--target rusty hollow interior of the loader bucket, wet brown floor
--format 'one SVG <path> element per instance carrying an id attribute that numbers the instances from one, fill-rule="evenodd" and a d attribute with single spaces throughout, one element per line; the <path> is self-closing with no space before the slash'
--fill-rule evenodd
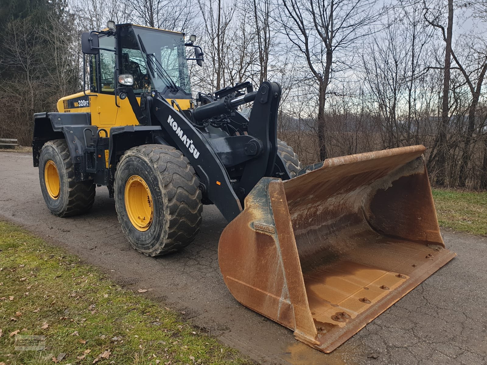
<path id="1" fill-rule="evenodd" d="M 284 189 L 318 338 L 365 326 L 444 249 L 422 157 L 325 166 Z"/>

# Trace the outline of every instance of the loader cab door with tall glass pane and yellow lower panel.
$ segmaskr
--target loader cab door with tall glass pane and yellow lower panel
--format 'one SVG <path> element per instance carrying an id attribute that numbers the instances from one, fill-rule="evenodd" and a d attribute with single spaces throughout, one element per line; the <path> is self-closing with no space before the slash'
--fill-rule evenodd
<path id="1" fill-rule="evenodd" d="M 115 49 L 115 37 L 100 36 L 100 48 Z M 100 50 L 96 57 L 98 96 L 91 98 L 92 124 L 100 128 L 115 126 L 118 107 L 115 104 L 115 52 Z M 96 114 L 96 116 L 94 116 Z"/>

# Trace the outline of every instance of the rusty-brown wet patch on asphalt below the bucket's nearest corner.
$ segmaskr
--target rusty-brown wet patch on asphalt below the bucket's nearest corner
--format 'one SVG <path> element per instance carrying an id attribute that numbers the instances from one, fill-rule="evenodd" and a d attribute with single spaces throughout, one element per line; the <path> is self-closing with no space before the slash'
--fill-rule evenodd
<path id="1" fill-rule="evenodd" d="M 281 358 L 293 365 L 357 365 L 358 348 L 342 345 L 329 354 L 296 341 L 286 348 Z"/>

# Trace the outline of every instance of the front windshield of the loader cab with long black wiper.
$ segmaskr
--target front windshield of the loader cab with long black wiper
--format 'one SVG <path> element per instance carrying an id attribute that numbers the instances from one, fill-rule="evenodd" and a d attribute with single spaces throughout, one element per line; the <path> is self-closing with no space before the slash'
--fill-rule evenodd
<path id="1" fill-rule="evenodd" d="M 134 77 L 134 92 L 155 89 L 164 92 L 174 84 L 191 94 L 183 35 L 163 33 L 149 28 L 126 27 L 120 29 L 122 72 Z M 138 40 L 143 45 L 141 52 Z"/>

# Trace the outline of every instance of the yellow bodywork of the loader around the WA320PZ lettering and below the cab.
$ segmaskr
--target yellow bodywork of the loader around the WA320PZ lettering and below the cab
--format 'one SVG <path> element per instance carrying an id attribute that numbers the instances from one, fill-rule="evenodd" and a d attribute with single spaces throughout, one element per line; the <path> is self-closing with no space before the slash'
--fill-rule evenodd
<path id="1" fill-rule="evenodd" d="M 87 101 L 89 102 L 87 103 Z M 171 100 L 167 99 L 171 104 Z M 190 99 L 175 99 L 182 110 L 191 107 Z M 140 104 L 140 97 L 137 97 Z M 104 128 L 110 133 L 110 128 L 120 126 L 138 126 L 139 122 L 133 113 L 129 99 L 117 98 L 118 107 L 115 105 L 113 94 L 94 93 L 89 90 L 64 96 L 57 101 L 57 111 L 65 113 L 84 112 L 91 113 L 91 124 Z M 86 105 L 86 106 L 85 106 Z M 174 109 L 178 110 L 174 104 Z"/>

